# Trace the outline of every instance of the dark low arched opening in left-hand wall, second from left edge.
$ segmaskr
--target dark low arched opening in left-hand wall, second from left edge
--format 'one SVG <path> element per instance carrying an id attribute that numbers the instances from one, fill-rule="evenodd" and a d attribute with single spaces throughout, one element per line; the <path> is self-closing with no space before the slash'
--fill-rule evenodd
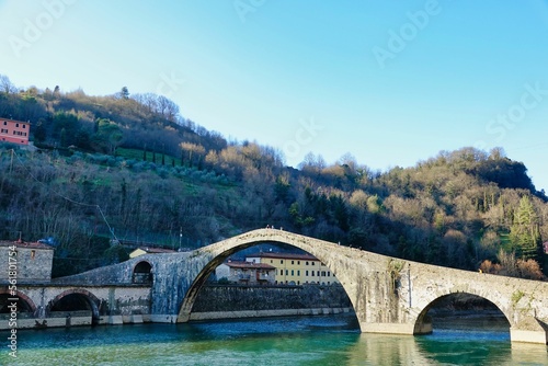
<path id="1" fill-rule="evenodd" d="M 49 318 L 85 318 L 91 317 L 92 323 L 99 321 L 99 299 L 83 289 L 68 290 L 58 295 L 46 308 Z M 70 324 L 70 321 L 67 321 Z"/>

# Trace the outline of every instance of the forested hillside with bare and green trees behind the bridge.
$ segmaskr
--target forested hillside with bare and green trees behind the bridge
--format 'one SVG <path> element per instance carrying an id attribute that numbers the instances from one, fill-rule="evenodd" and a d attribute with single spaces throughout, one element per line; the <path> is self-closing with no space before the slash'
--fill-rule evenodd
<path id="1" fill-rule="evenodd" d="M 548 268 L 547 197 L 502 149 L 387 172 L 309 153 L 297 170 L 161 95 L 20 90 L 1 76 L 0 90 L 0 117 L 30 121 L 38 148 L 0 146 L 0 238 L 49 238 L 56 275 L 124 260 L 130 245 L 193 249 L 266 225 L 458 268 L 537 279 Z"/>

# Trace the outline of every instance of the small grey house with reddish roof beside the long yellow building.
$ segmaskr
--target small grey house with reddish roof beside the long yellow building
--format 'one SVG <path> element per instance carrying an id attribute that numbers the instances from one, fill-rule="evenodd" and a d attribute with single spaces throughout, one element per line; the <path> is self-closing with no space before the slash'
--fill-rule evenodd
<path id="1" fill-rule="evenodd" d="M 228 261 L 215 270 L 217 279 L 227 278 L 231 283 L 246 285 L 273 285 L 276 267 L 252 262 Z"/>

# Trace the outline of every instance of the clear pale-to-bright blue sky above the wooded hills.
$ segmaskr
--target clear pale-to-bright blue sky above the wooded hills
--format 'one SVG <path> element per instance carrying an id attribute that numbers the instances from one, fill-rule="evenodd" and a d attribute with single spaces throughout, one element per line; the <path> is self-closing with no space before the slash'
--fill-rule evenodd
<path id="1" fill-rule="evenodd" d="M 162 93 L 290 165 L 501 146 L 548 191 L 547 0 L 0 0 L 18 87 Z"/>

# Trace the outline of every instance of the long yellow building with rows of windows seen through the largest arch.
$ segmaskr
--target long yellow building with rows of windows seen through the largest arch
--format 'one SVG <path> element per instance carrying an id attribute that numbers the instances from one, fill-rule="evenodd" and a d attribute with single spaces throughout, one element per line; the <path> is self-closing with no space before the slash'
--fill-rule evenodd
<path id="1" fill-rule="evenodd" d="M 252 263 L 269 264 L 276 267 L 276 284 L 284 285 L 331 285 L 339 283 L 333 273 L 310 254 L 256 253 L 246 256 Z"/>

